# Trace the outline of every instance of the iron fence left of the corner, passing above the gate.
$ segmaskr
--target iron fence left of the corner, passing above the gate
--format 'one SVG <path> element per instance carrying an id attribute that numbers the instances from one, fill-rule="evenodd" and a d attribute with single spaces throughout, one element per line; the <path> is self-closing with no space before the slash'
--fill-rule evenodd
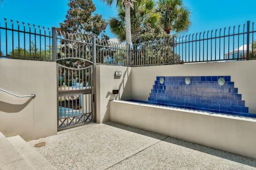
<path id="1" fill-rule="evenodd" d="M 94 51 L 93 51 L 94 50 Z M 99 64 L 126 65 L 126 46 L 106 39 L 86 37 L 13 20 L 0 22 L 0 57 L 21 60 L 63 61 L 83 58 Z M 88 64 L 88 63 L 85 63 Z"/>

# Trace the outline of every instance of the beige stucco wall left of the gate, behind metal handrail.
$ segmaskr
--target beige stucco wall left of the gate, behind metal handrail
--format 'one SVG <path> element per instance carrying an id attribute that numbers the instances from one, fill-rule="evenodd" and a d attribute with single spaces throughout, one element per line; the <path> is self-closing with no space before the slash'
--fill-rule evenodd
<path id="1" fill-rule="evenodd" d="M 0 91 L 0 131 L 25 140 L 57 133 L 56 63 L 0 59 L 0 88 L 17 95 L 36 94 L 36 98 L 17 98 Z"/>

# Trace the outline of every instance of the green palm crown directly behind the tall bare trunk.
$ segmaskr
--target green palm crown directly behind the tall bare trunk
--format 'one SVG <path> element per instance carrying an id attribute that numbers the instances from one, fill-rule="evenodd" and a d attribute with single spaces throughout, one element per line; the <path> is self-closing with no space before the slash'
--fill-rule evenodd
<path id="1" fill-rule="evenodd" d="M 117 8 L 117 17 L 110 18 L 109 25 L 120 41 L 127 38 L 125 30 L 125 7 L 119 5 Z M 161 14 L 156 12 L 154 0 L 137 0 L 131 9 L 131 37 L 132 43 L 139 43 L 139 39 L 143 33 L 154 31 L 154 28 L 159 26 Z M 159 32 L 158 32 L 159 33 Z"/>

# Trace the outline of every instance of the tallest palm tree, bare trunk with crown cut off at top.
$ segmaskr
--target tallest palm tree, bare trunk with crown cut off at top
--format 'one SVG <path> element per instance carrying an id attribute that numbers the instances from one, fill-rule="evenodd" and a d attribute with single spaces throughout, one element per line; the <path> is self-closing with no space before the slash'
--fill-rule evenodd
<path id="1" fill-rule="evenodd" d="M 102 0 L 106 2 L 108 5 L 112 5 L 114 0 Z M 116 0 L 116 6 L 124 5 L 125 8 L 125 37 L 126 37 L 126 45 L 131 45 L 132 37 L 131 37 L 131 8 L 133 8 L 135 0 Z"/>

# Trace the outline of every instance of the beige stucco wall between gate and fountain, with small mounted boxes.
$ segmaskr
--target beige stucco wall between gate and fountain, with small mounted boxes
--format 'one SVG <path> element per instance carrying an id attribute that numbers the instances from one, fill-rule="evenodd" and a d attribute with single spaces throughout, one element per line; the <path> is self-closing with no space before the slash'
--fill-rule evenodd
<path id="1" fill-rule="evenodd" d="M 115 71 L 121 71 L 121 77 L 115 77 Z M 114 65 L 96 66 L 97 122 L 107 122 L 110 116 L 109 101 L 131 98 L 131 67 Z M 113 95 L 112 90 L 119 90 Z"/>

